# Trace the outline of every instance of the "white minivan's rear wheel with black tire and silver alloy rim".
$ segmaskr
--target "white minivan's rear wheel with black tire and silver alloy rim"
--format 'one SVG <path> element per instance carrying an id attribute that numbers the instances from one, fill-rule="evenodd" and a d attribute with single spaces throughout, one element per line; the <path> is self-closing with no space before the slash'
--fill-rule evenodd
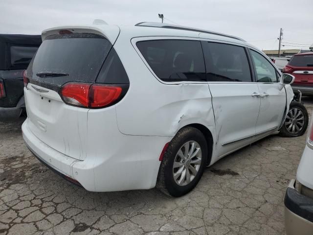
<path id="1" fill-rule="evenodd" d="M 200 181 L 206 162 L 207 143 L 201 131 L 182 128 L 164 153 L 156 188 L 174 197 L 188 193 Z"/>

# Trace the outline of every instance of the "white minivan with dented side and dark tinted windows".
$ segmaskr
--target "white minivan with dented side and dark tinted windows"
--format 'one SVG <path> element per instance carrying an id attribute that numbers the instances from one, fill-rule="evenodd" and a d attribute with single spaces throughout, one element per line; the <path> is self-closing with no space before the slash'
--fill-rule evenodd
<path id="1" fill-rule="evenodd" d="M 240 38 L 139 23 L 62 26 L 42 39 L 24 74 L 23 138 L 89 191 L 180 196 L 227 154 L 306 131 L 294 77 Z"/>

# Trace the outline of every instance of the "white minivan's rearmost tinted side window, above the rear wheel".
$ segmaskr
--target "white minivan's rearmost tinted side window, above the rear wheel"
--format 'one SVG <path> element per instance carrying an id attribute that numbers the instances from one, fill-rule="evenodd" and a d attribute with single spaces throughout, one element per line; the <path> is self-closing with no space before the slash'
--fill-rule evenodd
<path id="1" fill-rule="evenodd" d="M 137 42 L 137 47 L 163 81 L 206 81 L 199 41 L 142 41 Z"/>

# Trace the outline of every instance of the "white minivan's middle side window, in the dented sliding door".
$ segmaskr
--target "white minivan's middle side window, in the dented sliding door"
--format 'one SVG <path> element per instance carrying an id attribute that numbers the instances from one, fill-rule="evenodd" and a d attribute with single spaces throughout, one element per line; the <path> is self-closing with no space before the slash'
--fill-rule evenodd
<path id="1" fill-rule="evenodd" d="M 204 42 L 203 46 L 208 81 L 252 81 L 244 47 L 211 42 Z"/>

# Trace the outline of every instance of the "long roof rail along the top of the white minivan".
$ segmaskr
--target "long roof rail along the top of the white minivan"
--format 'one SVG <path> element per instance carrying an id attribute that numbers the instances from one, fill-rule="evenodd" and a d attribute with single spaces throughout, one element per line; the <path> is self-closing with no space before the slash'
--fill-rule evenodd
<path id="1" fill-rule="evenodd" d="M 172 28 L 172 29 L 188 30 L 188 31 L 201 32 L 201 33 L 210 33 L 210 34 L 224 36 L 224 37 L 233 38 L 233 39 L 237 39 L 237 40 L 246 42 L 244 39 L 239 38 L 239 37 L 235 37 L 235 36 L 232 36 L 232 35 L 223 34 L 223 33 L 217 33 L 217 32 L 208 31 L 208 30 L 204 30 L 204 29 L 200 29 L 200 28 L 185 27 L 185 26 L 175 25 L 175 24 L 164 24 L 164 23 L 157 23 L 157 22 L 140 22 L 138 24 L 135 24 L 135 26 L 157 27 L 157 28 Z"/>

